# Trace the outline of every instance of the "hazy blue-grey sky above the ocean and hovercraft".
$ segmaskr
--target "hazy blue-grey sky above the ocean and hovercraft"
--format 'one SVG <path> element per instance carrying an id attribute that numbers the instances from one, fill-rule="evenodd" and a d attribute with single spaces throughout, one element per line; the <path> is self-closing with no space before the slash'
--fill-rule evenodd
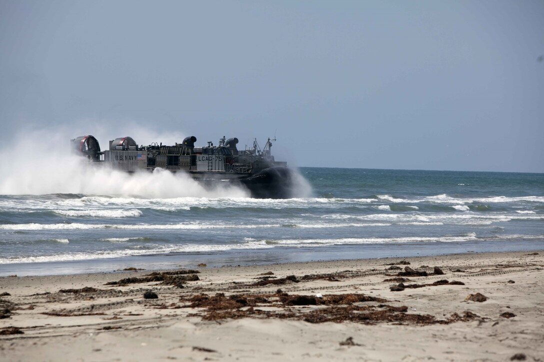
<path id="1" fill-rule="evenodd" d="M 544 172 L 543 54 L 541 0 L 0 0 L 0 141 L 276 133 L 299 166 Z"/>

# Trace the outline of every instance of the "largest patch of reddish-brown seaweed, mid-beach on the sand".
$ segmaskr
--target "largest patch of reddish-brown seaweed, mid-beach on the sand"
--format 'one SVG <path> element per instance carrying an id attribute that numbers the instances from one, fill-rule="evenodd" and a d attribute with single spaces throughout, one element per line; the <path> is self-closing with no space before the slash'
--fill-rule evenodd
<path id="1" fill-rule="evenodd" d="M 449 324 L 478 319 L 470 311 L 452 314 L 445 320 L 428 314 L 408 313 L 408 307 L 385 304 L 384 298 L 364 294 L 328 294 L 323 296 L 287 294 L 277 290 L 275 294 L 193 295 L 181 297 L 186 303 L 181 308 L 197 309 L 193 316 L 206 321 L 240 319 L 244 317 L 301 320 L 308 323 L 356 322 L 376 324 Z M 366 303 L 366 304 L 362 304 Z M 370 304 L 368 304 L 370 303 Z"/>

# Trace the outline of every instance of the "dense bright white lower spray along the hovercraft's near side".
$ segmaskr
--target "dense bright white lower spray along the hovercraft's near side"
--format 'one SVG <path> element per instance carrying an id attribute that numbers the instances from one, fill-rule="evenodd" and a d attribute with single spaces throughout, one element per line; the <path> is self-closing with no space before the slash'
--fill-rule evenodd
<path id="1" fill-rule="evenodd" d="M 212 188 L 191 179 L 183 172 L 128 174 L 103 165 L 82 163 L 75 156 L 49 153 L 41 159 L 27 158 L 10 168 L 3 167 L 0 180 L 2 195 L 84 194 L 169 197 L 246 197 L 248 192 L 233 185 L 217 184 Z M 7 168 L 7 169 L 5 169 Z"/>

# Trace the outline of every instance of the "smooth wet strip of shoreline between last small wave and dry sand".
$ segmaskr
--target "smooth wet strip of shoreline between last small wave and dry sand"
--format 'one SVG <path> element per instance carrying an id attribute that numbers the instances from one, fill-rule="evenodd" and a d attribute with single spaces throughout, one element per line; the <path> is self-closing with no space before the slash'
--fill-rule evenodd
<path id="1" fill-rule="evenodd" d="M 228 265 L 275 265 L 311 261 L 341 261 L 349 259 L 383 259 L 435 257 L 455 254 L 489 252 L 530 252 L 544 250 L 544 240 L 411 242 L 395 244 L 335 245 L 332 247 L 276 247 L 268 249 L 233 249 L 230 252 L 134 255 L 122 258 L 46 261 L 41 263 L 0 264 L 0 277 L 72 275 L 112 272 L 125 267 L 165 270 L 178 267 L 194 268 L 205 263 L 209 267 Z"/>

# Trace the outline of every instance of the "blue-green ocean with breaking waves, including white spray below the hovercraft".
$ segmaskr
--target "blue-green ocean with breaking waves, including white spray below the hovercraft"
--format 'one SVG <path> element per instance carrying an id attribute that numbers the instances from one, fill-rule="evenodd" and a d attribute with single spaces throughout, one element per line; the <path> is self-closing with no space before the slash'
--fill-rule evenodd
<path id="1" fill-rule="evenodd" d="M 254 199 L 104 172 L 4 178 L 0 276 L 544 249 L 544 174 L 302 167 Z"/>

